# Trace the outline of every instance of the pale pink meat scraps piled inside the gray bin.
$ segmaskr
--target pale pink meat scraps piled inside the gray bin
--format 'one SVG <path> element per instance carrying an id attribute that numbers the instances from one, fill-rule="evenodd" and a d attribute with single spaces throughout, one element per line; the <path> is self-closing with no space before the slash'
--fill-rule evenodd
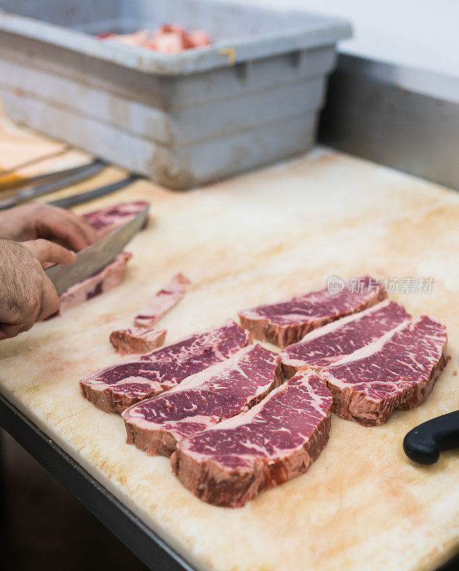
<path id="1" fill-rule="evenodd" d="M 163 24 L 156 31 L 139 30 L 133 34 L 112 34 L 103 32 L 99 39 L 114 39 L 128 46 L 139 46 L 158 51 L 161 54 L 179 54 L 186 49 L 199 48 L 212 44 L 212 39 L 204 30 L 187 31 L 178 24 Z"/>

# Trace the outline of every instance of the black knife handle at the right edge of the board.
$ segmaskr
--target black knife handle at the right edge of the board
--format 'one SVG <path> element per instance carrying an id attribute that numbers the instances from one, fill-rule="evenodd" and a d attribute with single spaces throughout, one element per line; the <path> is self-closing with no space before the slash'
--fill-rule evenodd
<path id="1" fill-rule="evenodd" d="M 440 457 L 440 450 L 458 447 L 459 410 L 416 426 L 403 440 L 405 454 L 420 464 L 435 464 Z"/>

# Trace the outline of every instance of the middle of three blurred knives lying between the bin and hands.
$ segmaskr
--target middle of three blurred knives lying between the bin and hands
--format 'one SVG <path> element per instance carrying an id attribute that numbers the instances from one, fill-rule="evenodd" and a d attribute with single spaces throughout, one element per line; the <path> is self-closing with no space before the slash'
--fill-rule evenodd
<path id="1" fill-rule="evenodd" d="M 87 178 L 91 178 L 91 176 L 96 175 L 105 167 L 106 163 L 100 159 L 97 159 L 96 161 L 93 161 L 87 165 L 77 166 L 75 168 L 69 169 L 67 173 L 68 176 L 61 176 L 61 178 L 58 178 L 57 180 L 51 180 L 50 182 L 40 184 L 39 186 L 26 186 L 21 191 L 15 193 L 13 196 L 0 201 L 0 210 L 12 208 L 21 202 L 30 201 L 33 198 L 43 196 L 44 194 L 59 191 L 61 188 L 65 188 L 66 186 L 71 186 L 73 184 L 86 181 Z M 56 175 L 53 174 L 50 176 L 51 178 L 55 178 Z"/>

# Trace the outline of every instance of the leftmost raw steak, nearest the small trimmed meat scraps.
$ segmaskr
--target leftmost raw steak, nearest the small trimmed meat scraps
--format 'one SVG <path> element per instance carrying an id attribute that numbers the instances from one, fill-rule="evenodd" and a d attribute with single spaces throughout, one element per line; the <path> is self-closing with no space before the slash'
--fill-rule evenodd
<path id="1" fill-rule="evenodd" d="M 251 343 L 248 331 L 228 320 L 128 363 L 118 363 L 80 381 L 81 395 L 106 412 L 121 413 L 144 398 L 231 357 Z"/>

